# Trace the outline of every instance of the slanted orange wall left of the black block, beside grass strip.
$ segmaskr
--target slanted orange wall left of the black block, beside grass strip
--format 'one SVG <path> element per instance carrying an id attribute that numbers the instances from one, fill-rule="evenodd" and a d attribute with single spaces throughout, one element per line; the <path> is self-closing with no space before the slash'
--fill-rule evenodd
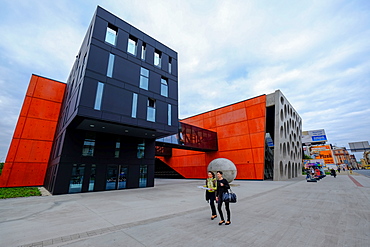
<path id="1" fill-rule="evenodd" d="M 44 184 L 66 84 L 32 75 L 0 187 Z"/>

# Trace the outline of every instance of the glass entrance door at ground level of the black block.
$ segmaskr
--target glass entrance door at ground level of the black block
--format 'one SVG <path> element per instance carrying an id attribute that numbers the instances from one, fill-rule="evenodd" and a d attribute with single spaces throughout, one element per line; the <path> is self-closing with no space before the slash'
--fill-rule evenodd
<path id="1" fill-rule="evenodd" d="M 109 165 L 105 190 L 119 190 L 126 188 L 128 167 L 124 165 Z"/>

